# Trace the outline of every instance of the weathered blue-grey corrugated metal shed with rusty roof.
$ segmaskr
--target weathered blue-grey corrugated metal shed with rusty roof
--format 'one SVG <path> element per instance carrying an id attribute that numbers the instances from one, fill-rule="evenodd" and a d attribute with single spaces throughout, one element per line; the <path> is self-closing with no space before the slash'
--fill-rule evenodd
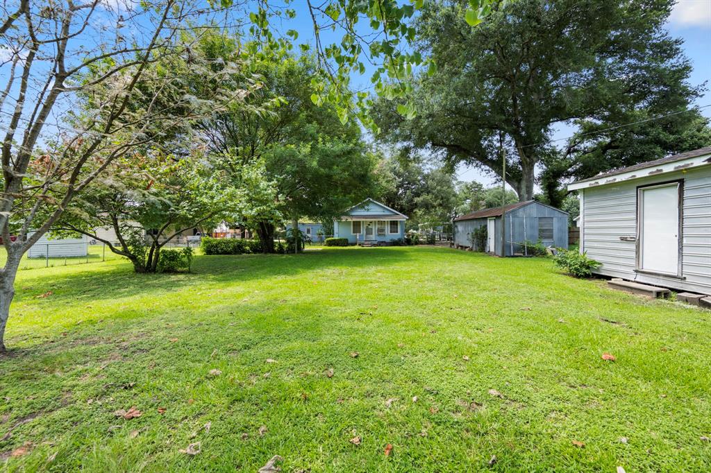
<path id="1" fill-rule="evenodd" d="M 502 226 L 502 214 L 505 216 Z M 471 234 L 486 226 L 486 244 L 480 251 L 501 256 L 525 254 L 525 242 L 568 247 L 568 214 L 535 200 L 471 212 L 454 219 L 454 246 L 471 247 Z M 502 234 L 503 232 L 503 234 Z M 504 245 L 504 241 L 506 244 Z"/>

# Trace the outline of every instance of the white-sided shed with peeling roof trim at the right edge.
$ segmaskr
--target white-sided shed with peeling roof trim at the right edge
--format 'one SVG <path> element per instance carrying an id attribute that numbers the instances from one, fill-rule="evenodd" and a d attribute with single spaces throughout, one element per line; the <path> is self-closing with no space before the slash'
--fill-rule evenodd
<path id="1" fill-rule="evenodd" d="M 596 273 L 711 294 L 711 146 L 568 186 Z"/>

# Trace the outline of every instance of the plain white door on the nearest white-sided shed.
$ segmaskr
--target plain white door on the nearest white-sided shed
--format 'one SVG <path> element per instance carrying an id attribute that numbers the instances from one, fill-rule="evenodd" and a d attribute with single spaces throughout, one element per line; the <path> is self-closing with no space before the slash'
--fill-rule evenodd
<path id="1" fill-rule="evenodd" d="M 679 272 L 679 184 L 639 190 L 639 268 Z"/>

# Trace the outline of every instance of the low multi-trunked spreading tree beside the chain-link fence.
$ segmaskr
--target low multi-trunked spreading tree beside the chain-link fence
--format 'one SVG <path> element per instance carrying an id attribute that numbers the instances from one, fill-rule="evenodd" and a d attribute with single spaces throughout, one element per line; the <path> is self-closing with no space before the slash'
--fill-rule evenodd
<path id="1" fill-rule="evenodd" d="M 236 198 L 200 159 L 154 151 L 114 161 L 55 227 L 102 241 L 137 273 L 155 273 L 166 244 L 186 230 L 220 221 Z M 112 229 L 117 241 L 100 237 L 100 229 Z"/>

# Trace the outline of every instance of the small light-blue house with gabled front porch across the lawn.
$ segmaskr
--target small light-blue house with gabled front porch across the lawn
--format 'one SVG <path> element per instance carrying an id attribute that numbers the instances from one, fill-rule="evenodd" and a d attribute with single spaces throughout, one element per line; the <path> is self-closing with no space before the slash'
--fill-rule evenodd
<path id="1" fill-rule="evenodd" d="M 333 220 L 333 237 L 351 244 L 388 244 L 405 239 L 407 216 L 373 199 L 366 199 Z"/>

